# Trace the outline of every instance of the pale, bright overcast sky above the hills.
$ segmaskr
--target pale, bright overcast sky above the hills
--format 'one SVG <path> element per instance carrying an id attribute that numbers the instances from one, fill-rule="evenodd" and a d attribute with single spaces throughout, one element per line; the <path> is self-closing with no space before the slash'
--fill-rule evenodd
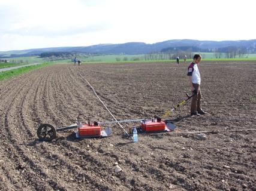
<path id="1" fill-rule="evenodd" d="M 256 39 L 255 0 L 0 0 L 0 51 Z"/>

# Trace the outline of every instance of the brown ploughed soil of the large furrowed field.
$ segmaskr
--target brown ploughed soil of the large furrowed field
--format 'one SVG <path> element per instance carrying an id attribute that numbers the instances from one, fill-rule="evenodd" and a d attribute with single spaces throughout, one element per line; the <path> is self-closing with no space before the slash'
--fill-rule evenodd
<path id="1" fill-rule="evenodd" d="M 202 62 L 202 116 L 189 103 L 169 133 L 39 141 L 37 127 L 71 125 L 79 113 L 113 121 L 162 116 L 189 93 L 189 63 L 55 64 L 0 82 L 0 190 L 256 190 L 256 63 Z M 124 124 L 129 127 L 139 124 Z M 187 131 L 206 133 L 200 139 Z M 118 162 L 121 172 L 114 171 Z"/>

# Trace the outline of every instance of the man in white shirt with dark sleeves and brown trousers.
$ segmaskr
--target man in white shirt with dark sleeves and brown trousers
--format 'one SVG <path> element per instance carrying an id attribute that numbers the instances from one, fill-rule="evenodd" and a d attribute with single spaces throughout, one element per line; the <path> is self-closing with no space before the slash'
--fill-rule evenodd
<path id="1" fill-rule="evenodd" d="M 200 77 L 200 71 L 198 69 L 198 64 L 201 61 L 201 55 L 195 54 L 194 61 L 192 61 L 188 66 L 188 78 L 189 78 L 189 84 L 191 86 L 192 94 L 195 94 L 195 96 L 192 97 L 191 101 L 191 109 L 190 113 L 191 115 L 204 115 L 206 112 L 204 112 L 201 108 L 201 90 L 200 90 L 200 84 L 201 84 L 201 77 Z"/>

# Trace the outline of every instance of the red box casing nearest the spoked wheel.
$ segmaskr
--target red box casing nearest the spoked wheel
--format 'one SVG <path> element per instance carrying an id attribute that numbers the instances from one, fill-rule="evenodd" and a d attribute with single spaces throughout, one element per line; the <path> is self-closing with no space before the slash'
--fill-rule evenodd
<path id="1" fill-rule="evenodd" d="M 83 124 L 82 127 L 78 128 L 80 136 L 100 136 L 101 127 L 97 125 Z"/>

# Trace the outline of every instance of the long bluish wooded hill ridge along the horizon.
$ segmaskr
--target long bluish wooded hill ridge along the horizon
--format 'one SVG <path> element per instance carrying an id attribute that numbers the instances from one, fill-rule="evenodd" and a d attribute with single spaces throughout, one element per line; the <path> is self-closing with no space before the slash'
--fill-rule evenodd
<path id="1" fill-rule="evenodd" d="M 36 48 L 19 51 L 4 51 L 0 52 L 0 57 L 38 56 L 45 52 L 147 54 L 152 52 L 174 50 L 175 48 L 180 50 L 183 50 L 184 48 L 192 48 L 192 50 L 201 52 L 213 52 L 217 48 L 219 48 L 219 50 L 225 50 L 226 47 L 242 47 L 246 48 L 247 53 L 256 53 L 256 39 L 248 41 L 197 41 L 182 39 L 157 42 L 155 44 L 146 44 L 144 42 L 128 42 L 124 44 L 98 44 L 88 47 Z"/>

